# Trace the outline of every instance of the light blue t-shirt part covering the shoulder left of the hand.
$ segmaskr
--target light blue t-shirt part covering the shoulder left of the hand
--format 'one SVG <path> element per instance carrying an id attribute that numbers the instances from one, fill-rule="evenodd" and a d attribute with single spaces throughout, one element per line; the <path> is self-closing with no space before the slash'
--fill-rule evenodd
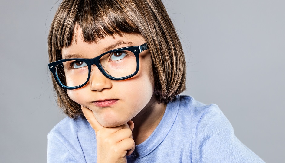
<path id="1" fill-rule="evenodd" d="M 90 127 L 81 117 L 61 120 L 47 135 L 47 162 L 85 162 L 84 153 L 89 155 L 95 149 Z"/>

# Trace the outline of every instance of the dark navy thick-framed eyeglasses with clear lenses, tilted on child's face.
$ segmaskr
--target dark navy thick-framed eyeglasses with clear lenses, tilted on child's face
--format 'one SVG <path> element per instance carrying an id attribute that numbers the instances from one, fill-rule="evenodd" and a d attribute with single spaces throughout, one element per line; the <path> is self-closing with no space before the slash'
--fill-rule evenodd
<path id="1" fill-rule="evenodd" d="M 62 59 L 48 64 L 48 67 L 61 88 L 77 89 L 89 81 L 92 65 L 96 65 L 111 80 L 133 77 L 139 71 L 139 54 L 147 49 L 144 43 L 141 46 L 110 50 L 92 59 Z"/>

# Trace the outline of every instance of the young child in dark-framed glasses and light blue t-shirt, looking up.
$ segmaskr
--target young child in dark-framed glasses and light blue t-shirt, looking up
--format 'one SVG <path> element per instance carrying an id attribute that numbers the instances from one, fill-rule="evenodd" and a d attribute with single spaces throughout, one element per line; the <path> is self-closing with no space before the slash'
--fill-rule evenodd
<path id="1" fill-rule="evenodd" d="M 67 118 L 47 162 L 264 162 L 218 106 L 185 90 L 185 59 L 160 0 L 64 0 L 48 37 Z"/>

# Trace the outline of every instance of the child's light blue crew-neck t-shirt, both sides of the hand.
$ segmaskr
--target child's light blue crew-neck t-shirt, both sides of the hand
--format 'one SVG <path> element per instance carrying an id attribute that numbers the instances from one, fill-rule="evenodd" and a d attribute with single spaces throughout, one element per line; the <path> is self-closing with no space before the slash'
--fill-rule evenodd
<path id="1" fill-rule="evenodd" d="M 128 162 L 259 163 L 264 162 L 234 135 L 217 105 L 189 96 L 167 104 L 159 125 L 136 145 Z M 96 162 L 95 132 L 86 119 L 65 118 L 48 134 L 47 162 Z"/>

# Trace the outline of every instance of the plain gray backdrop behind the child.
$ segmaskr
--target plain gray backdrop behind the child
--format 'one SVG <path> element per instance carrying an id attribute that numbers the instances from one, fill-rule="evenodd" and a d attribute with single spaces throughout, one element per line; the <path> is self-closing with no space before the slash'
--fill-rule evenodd
<path id="1" fill-rule="evenodd" d="M 47 69 L 54 0 L 0 4 L 0 162 L 46 162 L 59 111 Z M 164 1 L 187 60 L 187 91 L 218 104 L 236 136 L 266 162 L 283 162 L 285 2 Z"/>

